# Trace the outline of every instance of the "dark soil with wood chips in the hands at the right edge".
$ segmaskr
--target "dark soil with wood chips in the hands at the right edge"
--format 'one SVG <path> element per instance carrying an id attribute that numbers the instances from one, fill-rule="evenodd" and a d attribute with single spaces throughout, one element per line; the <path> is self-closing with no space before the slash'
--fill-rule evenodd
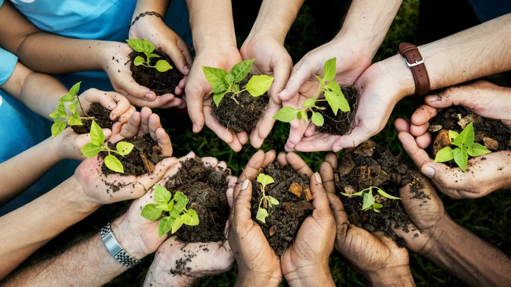
<path id="1" fill-rule="evenodd" d="M 428 131 L 434 139 L 433 144 L 427 149 L 429 156 L 435 158 L 440 149 L 451 146 L 449 130 L 460 133 L 471 122 L 474 126 L 475 142 L 492 152 L 510 149 L 508 144 L 511 139 L 511 130 L 499 119 L 481 117 L 462 106 L 452 106 L 443 109 L 429 121 Z M 457 167 L 454 160 L 445 163 L 451 168 Z"/>

